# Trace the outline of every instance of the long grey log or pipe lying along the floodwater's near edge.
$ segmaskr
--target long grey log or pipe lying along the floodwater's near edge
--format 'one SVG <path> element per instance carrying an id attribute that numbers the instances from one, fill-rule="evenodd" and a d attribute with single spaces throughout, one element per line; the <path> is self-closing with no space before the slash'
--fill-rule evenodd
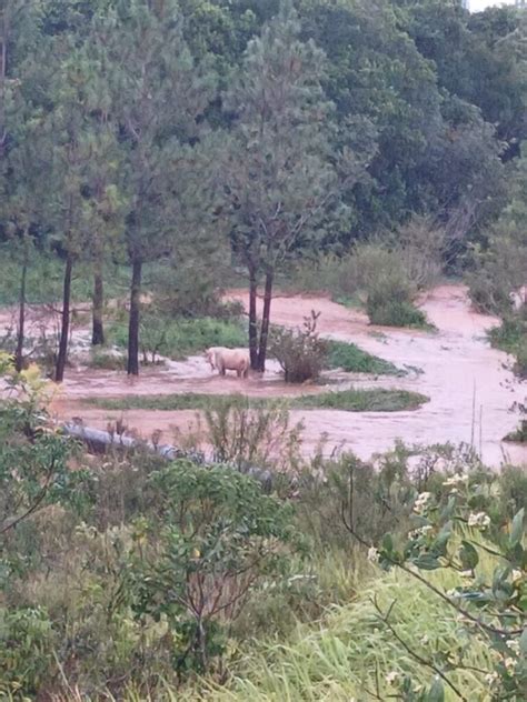
<path id="1" fill-rule="evenodd" d="M 212 467 L 213 461 L 207 461 L 205 453 L 201 451 L 185 451 L 171 444 L 153 443 L 152 441 L 143 441 L 133 437 L 127 437 L 117 432 L 103 431 L 84 427 L 80 422 L 66 422 L 60 424 L 60 430 L 67 435 L 79 439 L 92 453 L 106 453 L 109 449 L 127 450 L 127 451 L 147 451 L 156 453 L 166 461 L 176 461 L 178 459 L 188 459 L 197 465 L 203 468 Z M 235 465 L 229 463 L 233 470 L 246 475 L 250 475 L 258 480 L 266 490 L 272 488 L 272 473 L 266 469 L 255 465 Z"/>

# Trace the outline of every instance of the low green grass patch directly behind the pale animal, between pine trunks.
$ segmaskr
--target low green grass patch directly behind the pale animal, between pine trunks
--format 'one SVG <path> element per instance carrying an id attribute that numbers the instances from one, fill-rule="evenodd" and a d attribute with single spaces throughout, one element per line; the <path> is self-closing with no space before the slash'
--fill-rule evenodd
<path id="1" fill-rule="evenodd" d="M 128 344 L 128 324 L 113 323 L 108 329 L 110 343 L 120 348 Z M 156 345 L 157 353 L 173 360 L 181 360 L 200 353 L 208 347 L 246 347 L 247 332 L 241 320 L 220 320 L 211 317 L 197 319 L 145 320 L 140 333 L 140 344 Z"/>

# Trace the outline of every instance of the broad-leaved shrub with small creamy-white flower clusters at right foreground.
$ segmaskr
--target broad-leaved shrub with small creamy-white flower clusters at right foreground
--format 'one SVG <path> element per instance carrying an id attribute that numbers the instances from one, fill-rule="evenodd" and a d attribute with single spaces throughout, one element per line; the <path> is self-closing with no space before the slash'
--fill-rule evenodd
<path id="1" fill-rule="evenodd" d="M 395 696 L 405 701 L 443 700 L 445 688 L 456 699 L 467 698 L 455 686 L 448 672 L 469 669 L 479 673 L 490 700 L 523 700 L 527 690 L 527 549 L 524 509 L 506 523 L 495 523 L 485 505 L 488 499 L 477 474 L 456 473 L 443 482 L 439 497 L 418 493 L 412 509 L 412 529 L 396 543 L 386 534 L 370 546 L 368 558 L 381 568 L 399 568 L 428 586 L 457 611 L 468 640 L 484 640 L 491 649 L 494 668 L 475 670 L 461 652 L 422 653 L 422 645 L 404 641 L 390 622 L 390 611 L 378 609 L 379 618 L 407 653 L 435 673 L 428 690 L 394 671 L 387 682 Z M 485 555 L 485 562 L 483 562 Z M 490 561 L 490 566 L 488 565 Z M 425 571 L 450 569 L 459 574 L 451 590 L 438 588 Z M 420 642 L 422 643 L 422 642 Z"/>

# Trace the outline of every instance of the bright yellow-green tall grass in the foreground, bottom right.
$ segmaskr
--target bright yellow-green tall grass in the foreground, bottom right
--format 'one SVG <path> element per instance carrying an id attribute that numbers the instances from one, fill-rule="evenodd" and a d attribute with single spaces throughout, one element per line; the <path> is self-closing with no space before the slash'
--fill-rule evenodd
<path id="1" fill-rule="evenodd" d="M 436 581 L 449 588 L 451 575 Z M 388 672 L 409 674 L 416 685 L 430 683 L 432 673 L 405 652 L 379 620 L 374 601 L 386 612 L 395 605 L 390 623 L 398 635 L 424 658 L 431 651 L 454 653 L 464 644 L 456 612 L 408 575 L 389 574 L 365 583 L 355 601 L 331 608 L 315 624 L 299 624 L 287 643 L 256 646 L 240 661 L 226 688 L 210 686 L 201 699 L 218 702 L 350 702 L 382 700 L 395 694 L 386 682 Z M 428 641 L 426 638 L 428 638 Z M 490 670 L 490 654 L 484 643 L 474 643 L 466 663 Z M 483 674 L 474 671 L 448 673 L 469 700 L 484 700 Z M 210 695 L 210 696 L 209 696 Z M 197 696 L 187 699 L 198 699 Z M 446 689 L 446 701 L 457 700 Z"/>

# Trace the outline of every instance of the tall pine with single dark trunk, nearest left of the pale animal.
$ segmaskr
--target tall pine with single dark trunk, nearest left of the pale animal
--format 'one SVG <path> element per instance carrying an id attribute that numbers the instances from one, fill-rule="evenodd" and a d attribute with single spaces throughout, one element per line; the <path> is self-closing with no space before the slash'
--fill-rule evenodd
<path id="1" fill-rule="evenodd" d="M 115 110 L 125 151 L 126 244 L 131 264 L 128 373 L 139 373 L 139 314 L 143 264 L 173 250 L 196 214 L 188 181 L 196 177 L 202 116 L 213 91 L 207 67 L 196 66 L 172 0 L 132 0 L 116 16 L 112 61 Z"/>

